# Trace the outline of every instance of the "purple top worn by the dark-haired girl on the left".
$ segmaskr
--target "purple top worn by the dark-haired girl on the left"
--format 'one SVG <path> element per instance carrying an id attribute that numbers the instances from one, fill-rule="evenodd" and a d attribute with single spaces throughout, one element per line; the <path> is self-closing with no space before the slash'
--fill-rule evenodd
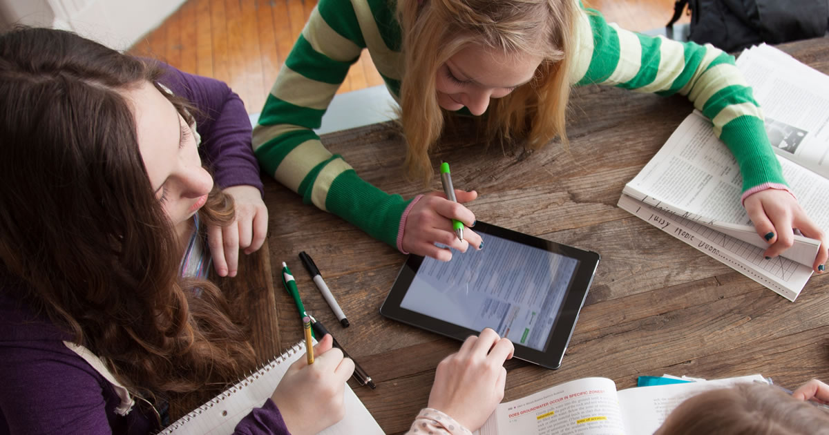
<path id="1" fill-rule="evenodd" d="M 191 101 L 201 152 L 222 187 L 250 185 L 262 191 L 245 106 L 224 83 L 170 68 L 162 83 Z M 2 269 L 2 266 L 0 266 Z M 21 302 L 25 283 L 0 273 L 0 435 L 158 432 L 153 415 L 138 406 L 114 412 L 120 399 L 109 381 L 67 348 L 70 337 Z M 268 399 L 236 426 L 238 434 L 287 434 L 279 409 Z"/>

